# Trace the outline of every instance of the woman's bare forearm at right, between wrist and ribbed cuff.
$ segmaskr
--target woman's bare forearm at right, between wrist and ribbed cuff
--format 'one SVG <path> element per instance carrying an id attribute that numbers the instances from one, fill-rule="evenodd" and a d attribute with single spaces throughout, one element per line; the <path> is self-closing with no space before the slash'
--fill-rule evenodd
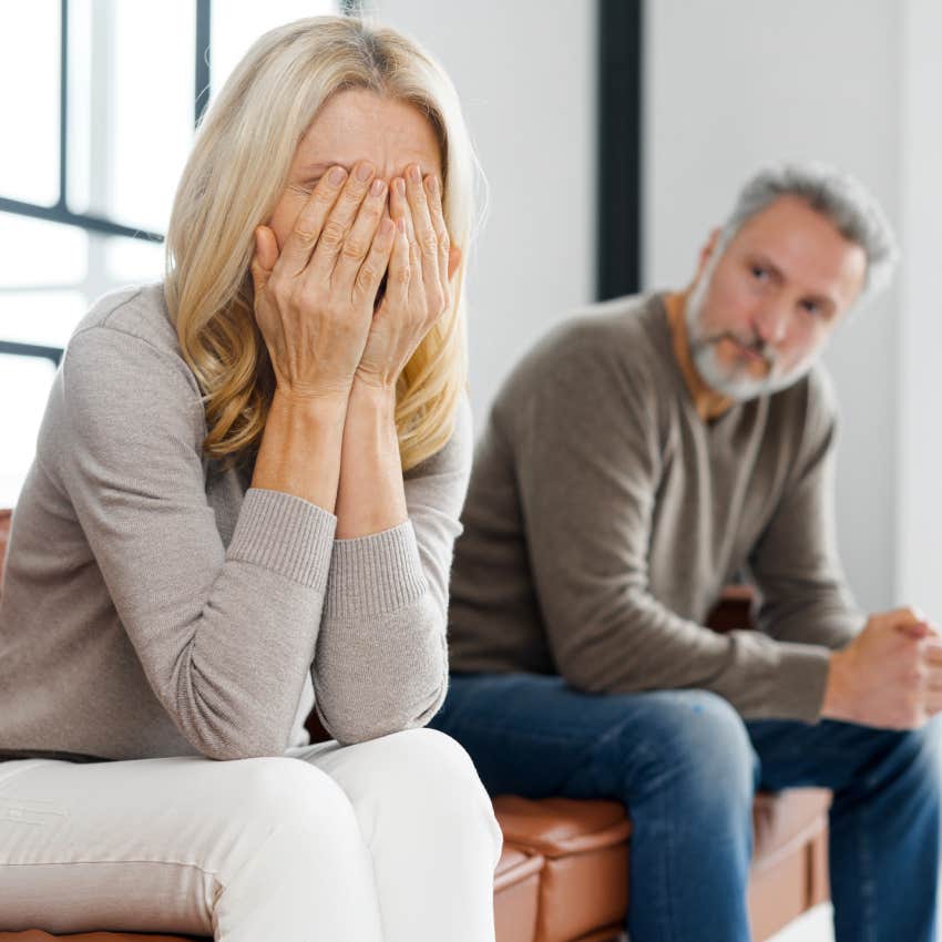
<path id="1" fill-rule="evenodd" d="M 405 523 L 406 492 L 396 433 L 396 390 L 354 380 L 344 426 L 337 539 Z"/>

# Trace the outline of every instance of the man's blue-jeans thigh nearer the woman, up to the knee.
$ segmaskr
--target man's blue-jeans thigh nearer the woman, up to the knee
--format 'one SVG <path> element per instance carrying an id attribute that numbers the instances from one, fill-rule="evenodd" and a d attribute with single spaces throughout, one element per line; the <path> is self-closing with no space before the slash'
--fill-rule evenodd
<path id="1" fill-rule="evenodd" d="M 492 795 L 631 801 L 658 782 L 749 778 L 755 764 L 741 719 L 704 690 L 585 694 L 555 675 L 457 674 L 431 725 Z"/>

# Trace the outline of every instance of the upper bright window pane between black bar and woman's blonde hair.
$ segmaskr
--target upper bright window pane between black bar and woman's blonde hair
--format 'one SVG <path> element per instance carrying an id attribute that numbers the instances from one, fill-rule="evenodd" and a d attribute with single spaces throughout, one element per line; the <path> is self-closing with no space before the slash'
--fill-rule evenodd
<path id="1" fill-rule="evenodd" d="M 70 122 L 70 208 L 162 233 L 193 141 L 195 0 L 75 8 L 76 94 L 91 101 Z"/>

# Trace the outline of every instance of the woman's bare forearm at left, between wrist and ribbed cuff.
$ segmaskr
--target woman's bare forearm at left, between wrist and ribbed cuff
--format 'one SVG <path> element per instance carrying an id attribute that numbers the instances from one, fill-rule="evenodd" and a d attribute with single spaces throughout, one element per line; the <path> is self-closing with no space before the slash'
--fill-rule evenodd
<path id="1" fill-rule="evenodd" d="M 298 399 L 276 391 L 252 487 L 284 491 L 335 513 L 347 405 L 342 395 Z"/>

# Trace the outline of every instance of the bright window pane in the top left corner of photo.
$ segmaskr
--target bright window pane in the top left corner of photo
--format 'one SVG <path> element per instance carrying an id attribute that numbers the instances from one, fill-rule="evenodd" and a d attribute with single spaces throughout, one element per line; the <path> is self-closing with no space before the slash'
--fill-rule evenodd
<path id="1" fill-rule="evenodd" d="M 59 0 L 17 3 L 0 31 L 0 196 L 59 199 Z M 6 264 L 6 259 L 4 259 Z"/>

